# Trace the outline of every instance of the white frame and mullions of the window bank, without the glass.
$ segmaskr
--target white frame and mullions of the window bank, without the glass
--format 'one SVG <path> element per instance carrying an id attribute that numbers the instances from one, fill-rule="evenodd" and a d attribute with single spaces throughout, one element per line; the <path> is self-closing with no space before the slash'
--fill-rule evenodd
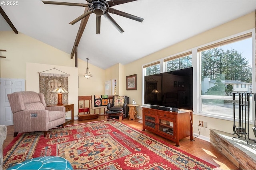
<path id="1" fill-rule="evenodd" d="M 233 121 L 233 118 L 230 117 L 223 117 L 220 115 L 214 115 L 211 113 L 204 113 L 202 112 L 202 99 L 204 98 L 209 98 L 209 99 L 218 99 L 218 97 L 216 96 L 202 96 L 201 95 L 201 59 L 200 59 L 200 53 L 198 52 L 198 49 L 203 49 L 204 47 L 208 46 L 208 45 L 213 45 L 222 41 L 226 41 L 228 39 L 232 39 L 247 33 L 251 33 L 252 34 L 252 92 L 256 93 L 256 68 L 255 68 L 255 44 L 256 44 L 256 40 L 253 38 L 255 37 L 255 29 L 249 29 L 247 31 L 242 31 L 240 33 L 236 33 L 234 35 L 230 35 L 228 37 L 224 37 L 221 39 L 218 39 L 216 41 L 212 41 L 197 47 L 192 47 L 191 49 L 187 49 L 186 51 L 182 51 L 180 53 L 176 53 L 174 55 L 170 55 L 168 57 L 164 57 L 161 59 L 158 59 L 156 61 L 150 62 L 148 64 L 144 64 L 142 65 L 142 106 L 147 106 L 144 104 L 144 76 L 145 76 L 145 70 L 144 70 L 144 66 L 146 65 L 150 65 L 151 63 L 156 63 L 156 62 L 160 62 L 160 73 L 162 72 L 166 72 L 166 64 L 164 64 L 164 61 L 167 61 L 168 59 L 175 59 L 175 56 L 178 55 L 182 55 L 185 53 L 188 53 L 189 51 L 191 51 L 192 53 L 192 67 L 193 69 L 193 114 L 194 115 L 201 115 L 204 117 L 211 117 L 211 118 L 217 118 L 217 119 L 223 119 L 223 120 L 229 120 L 229 121 Z M 232 100 L 232 96 L 224 96 L 221 98 L 219 98 L 220 100 Z M 238 99 L 238 96 L 236 96 L 236 99 Z M 254 107 L 254 103 L 252 103 L 252 106 Z M 253 108 L 254 109 L 254 108 Z M 254 114 L 252 114 L 252 120 L 254 120 Z M 250 124 L 254 124 L 254 122 L 250 121 Z"/>

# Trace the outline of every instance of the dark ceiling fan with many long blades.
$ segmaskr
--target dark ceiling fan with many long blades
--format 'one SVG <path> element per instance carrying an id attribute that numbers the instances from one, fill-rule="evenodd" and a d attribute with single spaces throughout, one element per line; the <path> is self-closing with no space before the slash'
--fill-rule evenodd
<path id="1" fill-rule="evenodd" d="M 107 0 L 86 0 L 86 1 L 88 2 L 87 4 L 79 4 L 79 3 L 71 3 L 71 2 L 54 2 L 54 1 L 42 0 L 42 2 L 44 4 L 88 7 L 88 11 L 86 11 L 84 14 L 82 14 L 75 20 L 71 21 L 70 24 L 74 25 L 75 23 L 82 20 L 86 16 L 94 13 L 94 14 L 96 14 L 96 33 L 97 34 L 100 33 L 100 18 L 102 15 L 104 17 L 106 17 L 108 19 L 108 21 L 110 21 L 110 23 L 112 23 L 114 25 L 114 27 L 116 27 L 116 29 L 118 29 L 118 31 L 120 31 L 120 33 L 124 32 L 124 30 L 118 25 L 118 23 L 116 23 L 116 21 L 108 13 L 116 14 L 116 15 L 123 16 L 126 18 L 130 18 L 135 21 L 140 21 L 140 22 L 142 22 L 144 20 L 143 18 L 134 16 L 131 14 L 127 14 L 125 12 L 111 8 L 112 6 L 115 6 L 115 5 L 133 2 L 136 0 L 109 0 L 109 1 L 107 1 Z"/>

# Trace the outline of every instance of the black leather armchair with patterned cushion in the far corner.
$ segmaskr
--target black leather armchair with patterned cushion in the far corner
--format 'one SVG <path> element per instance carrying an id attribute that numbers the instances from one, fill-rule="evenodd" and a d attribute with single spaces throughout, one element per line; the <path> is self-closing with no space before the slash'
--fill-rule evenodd
<path id="1" fill-rule="evenodd" d="M 107 104 L 107 109 L 111 111 L 119 111 L 120 109 L 124 112 L 124 117 L 128 117 L 129 114 L 129 97 L 128 96 L 113 96 L 112 103 Z"/>

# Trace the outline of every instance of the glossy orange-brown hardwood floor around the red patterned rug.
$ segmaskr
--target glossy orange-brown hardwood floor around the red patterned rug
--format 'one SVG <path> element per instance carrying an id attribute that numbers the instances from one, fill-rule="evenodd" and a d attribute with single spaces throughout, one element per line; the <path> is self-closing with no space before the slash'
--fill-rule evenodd
<path id="1" fill-rule="evenodd" d="M 84 121 L 74 120 L 74 122 L 68 123 L 68 125 L 98 121 L 98 120 L 104 120 L 104 116 L 100 115 L 98 119 L 90 119 L 90 120 L 84 120 Z M 140 119 L 130 120 L 130 121 L 128 119 L 124 119 L 122 122 L 141 131 L 142 123 L 139 123 L 138 120 Z M 147 133 L 148 135 L 151 135 L 175 147 L 175 143 L 172 141 L 164 139 L 163 137 L 155 135 L 154 133 L 147 130 L 144 132 Z M 13 134 L 14 134 L 14 127 L 7 126 L 7 137 L 6 137 L 6 140 L 4 141 L 3 148 L 5 148 L 14 139 Z M 196 138 L 194 139 L 194 141 L 190 141 L 189 137 L 184 138 L 180 140 L 180 147 L 178 147 L 178 149 L 184 150 L 189 154 L 197 156 L 198 158 L 201 158 L 202 160 L 205 160 L 206 162 L 209 162 L 217 166 L 218 169 L 238 169 L 230 160 L 228 160 L 228 158 L 226 158 L 226 156 L 220 153 L 210 142 L 204 141 L 202 139 Z"/>

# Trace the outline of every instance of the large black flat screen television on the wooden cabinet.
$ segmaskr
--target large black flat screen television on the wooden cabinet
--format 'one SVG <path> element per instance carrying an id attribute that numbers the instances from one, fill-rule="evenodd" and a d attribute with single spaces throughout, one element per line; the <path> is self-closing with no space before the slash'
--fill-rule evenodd
<path id="1" fill-rule="evenodd" d="M 193 110 L 193 67 L 144 77 L 144 104 Z"/>

